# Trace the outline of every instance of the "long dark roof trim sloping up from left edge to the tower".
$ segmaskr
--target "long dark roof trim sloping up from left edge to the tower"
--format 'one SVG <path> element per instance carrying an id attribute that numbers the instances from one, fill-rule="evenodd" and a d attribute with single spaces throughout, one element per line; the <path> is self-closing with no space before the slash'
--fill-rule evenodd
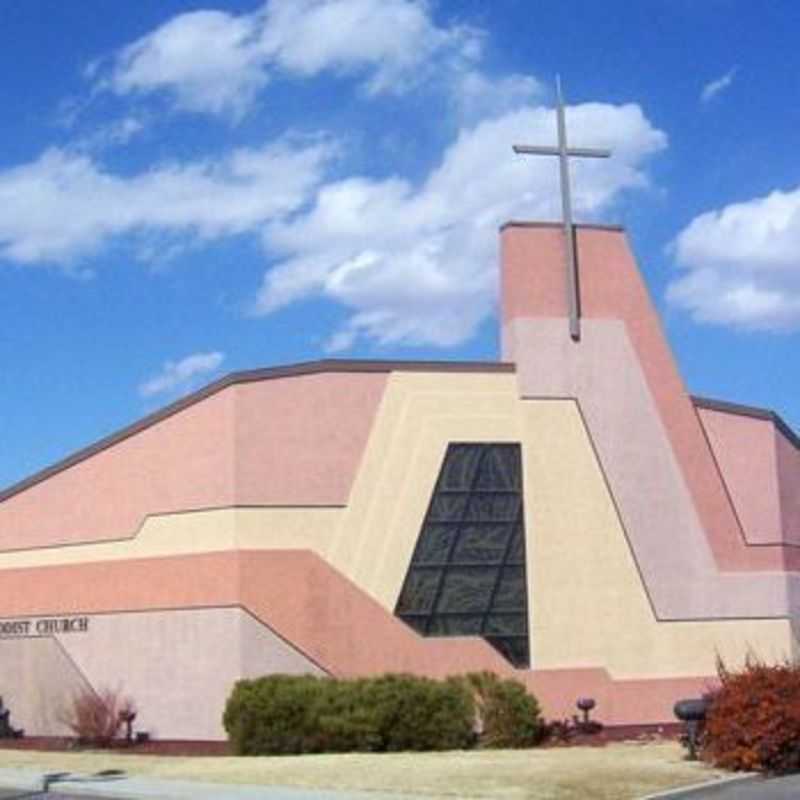
<path id="1" fill-rule="evenodd" d="M 243 370 L 231 372 L 219 380 L 198 389 L 192 394 L 170 403 L 158 411 L 148 414 L 132 425 L 128 425 L 115 433 L 106 436 L 94 444 L 84 447 L 61 461 L 45 467 L 43 470 L 24 478 L 6 489 L 0 491 L 0 503 L 8 500 L 15 494 L 24 492 L 31 486 L 47 480 L 53 475 L 63 472 L 70 467 L 85 461 L 97 453 L 113 447 L 115 444 L 136 435 L 162 420 L 183 411 L 185 408 L 205 400 L 207 397 L 221 392 L 229 386 L 241 383 L 255 383 L 257 381 L 271 380 L 273 378 L 294 378 L 301 375 L 317 375 L 324 372 L 506 372 L 513 373 L 513 364 L 501 361 L 359 361 L 349 359 L 323 359 L 321 361 L 304 361 L 299 364 L 288 364 L 282 367 L 267 367 L 265 369 Z"/>

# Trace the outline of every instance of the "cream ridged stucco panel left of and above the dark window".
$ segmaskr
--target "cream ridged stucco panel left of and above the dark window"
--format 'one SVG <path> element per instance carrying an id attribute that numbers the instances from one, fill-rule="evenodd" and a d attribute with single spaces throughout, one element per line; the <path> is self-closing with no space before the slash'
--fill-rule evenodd
<path id="1" fill-rule="evenodd" d="M 519 441 L 514 376 L 395 373 L 328 559 L 393 610 L 451 441 Z"/>

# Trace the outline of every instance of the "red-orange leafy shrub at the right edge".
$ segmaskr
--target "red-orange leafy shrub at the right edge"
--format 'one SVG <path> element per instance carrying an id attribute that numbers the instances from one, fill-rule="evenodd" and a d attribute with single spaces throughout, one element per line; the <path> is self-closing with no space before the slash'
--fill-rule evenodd
<path id="1" fill-rule="evenodd" d="M 706 717 L 703 758 L 719 767 L 759 772 L 800 769 L 800 666 L 748 658 L 718 665 L 720 688 Z"/>

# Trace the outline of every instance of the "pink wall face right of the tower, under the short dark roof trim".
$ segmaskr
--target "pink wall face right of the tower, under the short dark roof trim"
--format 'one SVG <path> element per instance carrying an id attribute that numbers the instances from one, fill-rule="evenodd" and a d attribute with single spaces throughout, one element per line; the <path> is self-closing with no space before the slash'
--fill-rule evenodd
<path id="1" fill-rule="evenodd" d="M 792 541 L 785 537 L 781 520 L 772 421 L 708 408 L 698 408 L 697 413 L 747 541 L 753 544 Z"/>

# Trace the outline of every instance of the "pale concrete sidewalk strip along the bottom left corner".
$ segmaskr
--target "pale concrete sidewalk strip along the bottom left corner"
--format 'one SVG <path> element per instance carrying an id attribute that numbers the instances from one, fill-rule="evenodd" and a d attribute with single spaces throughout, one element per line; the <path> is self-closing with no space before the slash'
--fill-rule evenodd
<path id="1" fill-rule="evenodd" d="M 52 775 L 53 773 L 49 773 Z M 42 789 L 48 773 L 25 769 L 0 769 L 0 800 L 20 798 L 94 797 L 98 800 L 420 800 L 417 795 L 377 792 L 337 792 L 226 783 L 137 778 L 121 774 L 80 775 L 62 773 Z M 11 793 L 6 794 L 4 790 Z M 16 791 L 16 794 L 13 793 Z M 39 792 L 40 794 L 36 794 Z M 430 797 L 427 798 L 430 800 Z"/>

